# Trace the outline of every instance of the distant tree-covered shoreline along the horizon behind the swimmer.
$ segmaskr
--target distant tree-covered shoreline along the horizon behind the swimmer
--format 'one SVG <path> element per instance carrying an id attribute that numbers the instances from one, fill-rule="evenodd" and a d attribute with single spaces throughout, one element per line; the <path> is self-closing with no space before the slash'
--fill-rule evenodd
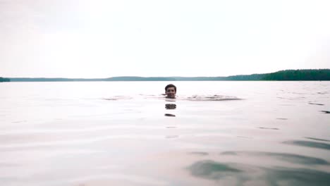
<path id="1" fill-rule="evenodd" d="M 47 78 L 0 77 L 0 82 L 100 82 L 100 81 L 329 81 L 330 69 L 281 70 L 275 73 L 231 75 L 227 77 L 138 77 Z"/>

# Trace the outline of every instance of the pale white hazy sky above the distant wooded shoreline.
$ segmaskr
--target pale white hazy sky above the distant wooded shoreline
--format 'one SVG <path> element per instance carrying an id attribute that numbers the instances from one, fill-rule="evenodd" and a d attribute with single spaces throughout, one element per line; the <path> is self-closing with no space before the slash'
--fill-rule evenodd
<path id="1" fill-rule="evenodd" d="M 329 10 L 329 0 L 0 0 L 0 77 L 330 68 Z"/>

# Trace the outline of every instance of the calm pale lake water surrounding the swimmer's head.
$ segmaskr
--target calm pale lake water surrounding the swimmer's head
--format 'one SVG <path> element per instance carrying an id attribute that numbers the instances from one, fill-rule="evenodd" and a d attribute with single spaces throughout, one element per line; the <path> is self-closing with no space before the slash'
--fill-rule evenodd
<path id="1" fill-rule="evenodd" d="M 330 185 L 330 82 L 0 83 L 0 185 Z"/>

